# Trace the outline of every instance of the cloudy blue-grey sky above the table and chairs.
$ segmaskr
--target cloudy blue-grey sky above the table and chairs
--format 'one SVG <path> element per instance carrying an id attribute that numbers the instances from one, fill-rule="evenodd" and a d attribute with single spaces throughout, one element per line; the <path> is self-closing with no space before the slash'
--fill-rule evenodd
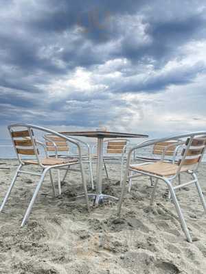
<path id="1" fill-rule="evenodd" d="M 0 129 L 206 129 L 206 2 L 0 0 Z"/>

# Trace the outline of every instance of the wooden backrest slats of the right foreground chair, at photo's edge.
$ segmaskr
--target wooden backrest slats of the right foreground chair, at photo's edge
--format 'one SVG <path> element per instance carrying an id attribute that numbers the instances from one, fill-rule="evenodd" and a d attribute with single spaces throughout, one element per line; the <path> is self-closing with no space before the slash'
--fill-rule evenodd
<path id="1" fill-rule="evenodd" d="M 190 138 L 187 138 L 185 145 L 188 146 L 189 144 L 190 144 Z M 185 156 L 185 159 L 184 160 L 180 159 L 179 164 L 183 164 L 183 165 L 198 164 L 198 162 L 201 160 L 202 155 L 205 151 L 205 145 L 206 145 L 206 136 L 203 136 L 201 138 L 194 138 L 191 142 L 190 147 L 189 148 L 185 147 L 185 149 L 183 149 L 181 155 L 182 157 Z"/>

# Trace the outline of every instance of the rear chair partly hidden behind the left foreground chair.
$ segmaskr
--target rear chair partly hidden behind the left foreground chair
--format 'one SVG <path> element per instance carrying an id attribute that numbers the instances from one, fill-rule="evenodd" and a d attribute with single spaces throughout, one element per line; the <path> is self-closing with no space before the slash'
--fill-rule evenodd
<path id="1" fill-rule="evenodd" d="M 65 138 L 60 138 L 57 136 L 54 136 L 52 134 L 46 134 L 44 136 L 45 138 L 45 145 L 47 149 L 47 153 L 49 157 L 51 158 L 64 158 L 64 159 L 72 159 L 72 158 L 78 158 L 78 155 L 73 155 L 73 153 L 69 153 L 72 149 L 69 147 L 69 144 Z M 83 154 L 82 153 L 82 162 L 83 163 L 88 163 L 89 164 L 89 177 L 90 177 L 90 182 L 91 182 L 91 188 L 93 189 L 93 172 L 92 172 L 92 166 L 91 166 L 91 153 L 90 153 L 90 147 L 87 144 L 87 142 L 83 142 L 82 140 L 79 140 L 77 138 L 70 137 L 70 140 L 75 140 L 78 142 L 82 147 L 87 149 L 87 153 Z M 62 178 L 62 181 L 65 180 L 68 169 L 65 171 L 65 175 Z M 60 170 L 58 170 L 58 190 L 59 190 L 59 195 L 61 195 L 61 179 L 60 179 Z"/>

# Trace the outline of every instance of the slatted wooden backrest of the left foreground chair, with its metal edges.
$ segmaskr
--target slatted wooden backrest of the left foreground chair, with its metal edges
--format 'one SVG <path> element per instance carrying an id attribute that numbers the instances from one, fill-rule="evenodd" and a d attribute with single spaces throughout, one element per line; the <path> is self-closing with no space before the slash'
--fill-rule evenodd
<path id="1" fill-rule="evenodd" d="M 33 156 L 38 160 L 39 151 L 33 130 L 27 127 L 22 130 L 15 130 L 15 127 L 12 126 L 8 127 L 8 129 L 19 161 L 22 162 L 23 156 Z"/>

